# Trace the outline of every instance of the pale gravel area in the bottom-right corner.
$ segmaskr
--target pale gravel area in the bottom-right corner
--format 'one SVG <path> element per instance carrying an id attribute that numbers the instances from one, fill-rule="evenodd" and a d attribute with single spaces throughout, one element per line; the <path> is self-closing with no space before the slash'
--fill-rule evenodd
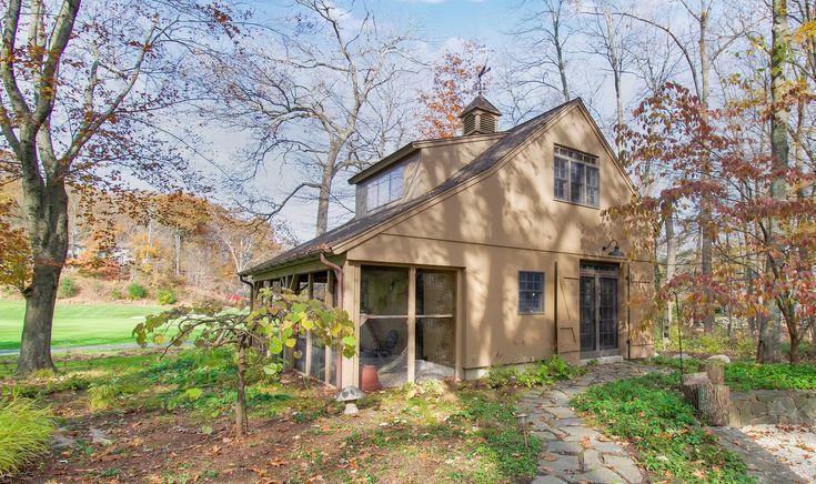
<path id="1" fill-rule="evenodd" d="M 742 431 L 807 482 L 816 482 L 816 427 L 749 425 Z"/>

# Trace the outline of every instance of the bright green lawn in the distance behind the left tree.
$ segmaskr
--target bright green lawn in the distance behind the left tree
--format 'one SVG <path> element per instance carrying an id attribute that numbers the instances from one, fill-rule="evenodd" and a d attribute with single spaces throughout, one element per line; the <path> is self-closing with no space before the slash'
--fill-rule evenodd
<path id="1" fill-rule="evenodd" d="M 20 347 L 22 301 L 0 301 L 0 350 Z M 53 346 L 84 346 L 134 342 L 133 326 L 167 307 L 135 304 L 62 304 L 54 313 Z"/>

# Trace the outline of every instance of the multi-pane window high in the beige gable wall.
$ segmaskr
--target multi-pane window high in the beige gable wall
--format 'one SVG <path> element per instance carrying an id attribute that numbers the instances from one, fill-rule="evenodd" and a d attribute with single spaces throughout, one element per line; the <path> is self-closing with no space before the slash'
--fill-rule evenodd
<path id="1" fill-rule="evenodd" d="M 553 180 L 555 198 L 583 205 L 601 203 L 597 157 L 555 147 Z"/>

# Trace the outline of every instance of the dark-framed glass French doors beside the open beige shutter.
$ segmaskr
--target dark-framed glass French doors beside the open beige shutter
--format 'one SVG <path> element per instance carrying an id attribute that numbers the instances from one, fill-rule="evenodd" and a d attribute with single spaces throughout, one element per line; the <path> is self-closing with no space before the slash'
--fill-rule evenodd
<path id="1" fill-rule="evenodd" d="M 581 357 L 619 354 L 617 265 L 581 263 L 578 290 Z"/>

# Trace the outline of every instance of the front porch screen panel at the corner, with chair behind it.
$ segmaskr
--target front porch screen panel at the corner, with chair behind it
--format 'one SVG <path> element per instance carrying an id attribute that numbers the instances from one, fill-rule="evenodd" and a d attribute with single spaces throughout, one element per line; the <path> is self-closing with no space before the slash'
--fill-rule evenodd
<path id="1" fill-rule="evenodd" d="M 407 274 L 406 268 L 362 268 L 361 386 L 373 373 L 385 387 L 407 382 Z"/>

